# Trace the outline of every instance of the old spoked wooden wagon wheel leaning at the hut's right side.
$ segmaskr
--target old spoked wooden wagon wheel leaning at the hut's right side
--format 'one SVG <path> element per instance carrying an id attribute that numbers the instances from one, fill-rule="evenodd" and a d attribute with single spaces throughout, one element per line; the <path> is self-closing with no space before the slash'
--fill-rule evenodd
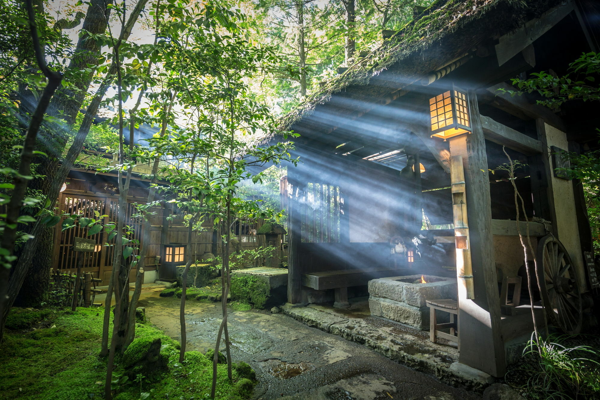
<path id="1" fill-rule="evenodd" d="M 542 304 L 550 321 L 563 332 L 581 330 L 581 290 L 565 246 L 548 234 L 538 243 L 537 273 Z"/>

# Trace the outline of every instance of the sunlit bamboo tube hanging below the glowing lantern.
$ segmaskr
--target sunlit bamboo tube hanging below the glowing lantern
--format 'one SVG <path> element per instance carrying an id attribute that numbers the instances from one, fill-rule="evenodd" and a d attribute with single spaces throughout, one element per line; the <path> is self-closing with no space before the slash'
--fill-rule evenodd
<path id="1" fill-rule="evenodd" d="M 456 244 L 456 273 L 465 298 L 475 298 L 473 291 L 473 269 L 467 221 L 467 199 L 464 183 L 463 156 L 450 157 L 450 178 L 452 187 L 452 214 L 454 214 L 454 238 Z"/>

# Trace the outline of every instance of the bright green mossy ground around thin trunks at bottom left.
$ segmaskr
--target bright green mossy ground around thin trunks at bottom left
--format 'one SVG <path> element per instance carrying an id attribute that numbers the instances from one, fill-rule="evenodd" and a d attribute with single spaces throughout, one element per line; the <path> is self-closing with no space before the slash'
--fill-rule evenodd
<path id="1" fill-rule="evenodd" d="M 102 321 L 103 310 L 97 308 L 13 311 L 0 345 L 0 399 L 104 398 L 106 359 L 98 356 Z M 121 379 L 115 384 L 115 400 L 208 398 L 212 360 L 197 351 L 187 351 L 184 363 L 178 363 L 179 343 L 149 324 L 136 324 L 136 341 L 131 346 L 141 348 L 157 338 L 161 339 L 160 354 L 168 360 L 167 367 L 146 377 L 138 375 L 134 381 L 123 378 L 131 371 L 124 368 L 127 357 L 118 357 L 115 378 Z M 227 378 L 226 364 L 218 365 L 215 399 L 250 398 L 253 379 L 254 373 L 245 363 L 235 365 L 232 381 Z"/>

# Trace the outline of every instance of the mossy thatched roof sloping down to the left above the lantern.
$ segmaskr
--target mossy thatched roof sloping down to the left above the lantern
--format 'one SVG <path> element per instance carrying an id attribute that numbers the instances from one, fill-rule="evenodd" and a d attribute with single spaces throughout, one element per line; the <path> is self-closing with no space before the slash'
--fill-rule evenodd
<path id="1" fill-rule="evenodd" d="M 390 94 L 427 76 L 490 38 L 497 38 L 540 16 L 560 0 L 439 0 L 407 23 L 392 38 L 322 84 L 296 109 L 280 118 L 281 130 L 314 115 L 337 98 L 336 110 L 353 119 L 368 111 L 368 103 L 389 102 Z M 392 95 L 392 98 L 393 95 Z M 346 100 L 346 101 L 343 101 Z M 354 100 L 354 101 L 350 101 Z M 367 109 L 365 109 L 365 107 Z M 362 108 L 362 112 L 360 109 Z M 319 122 L 302 121 L 319 127 Z M 302 134 L 302 132 L 299 132 Z"/>

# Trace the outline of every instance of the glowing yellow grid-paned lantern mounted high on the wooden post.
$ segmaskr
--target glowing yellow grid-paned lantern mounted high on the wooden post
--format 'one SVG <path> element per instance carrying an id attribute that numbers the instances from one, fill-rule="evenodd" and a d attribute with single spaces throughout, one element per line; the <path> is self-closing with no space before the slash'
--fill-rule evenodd
<path id="1" fill-rule="evenodd" d="M 444 141 L 452 136 L 471 133 L 467 93 L 456 86 L 429 99 L 431 136 Z"/>

